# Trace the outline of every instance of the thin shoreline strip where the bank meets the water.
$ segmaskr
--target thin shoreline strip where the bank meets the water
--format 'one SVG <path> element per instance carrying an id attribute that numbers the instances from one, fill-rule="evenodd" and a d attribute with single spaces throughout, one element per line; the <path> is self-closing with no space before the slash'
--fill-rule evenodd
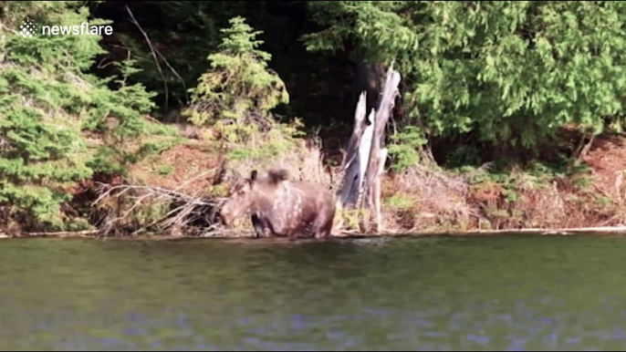
<path id="1" fill-rule="evenodd" d="M 122 240 L 122 241 L 188 241 L 188 240 L 221 240 L 225 242 L 287 242 L 287 243 L 301 243 L 301 242 L 315 242 L 315 239 L 298 238 L 297 240 L 290 241 L 287 238 L 281 237 L 264 237 L 257 239 L 252 232 L 250 234 L 242 235 L 220 235 L 219 232 L 210 236 L 190 236 L 190 235 L 171 235 L 171 234 L 141 234 L 141 235 L 122 235 L 122 236 L 102 236 L 100 231 L 79 231 L 79 232 L 60 232 L 60 233 L 16 233 L 7 234 L 0 233 L 0 240 L 10 239 L 35 239 L 35 238 L 48 238 L 48 239 L 101 239 L 107 240 Z M 556 228 L 556 229 L 540 229 L 540 228 L 526 228 L 526 229 L 507 229 L 507 230 L 474 230 L 467 232 L 429 232 L 429 233 L 353 233 L 353 232 L 341 232 L 330 236 L 329 240 L 357 240 L 357 239 L 376 239 L 376 238 L 433 238 L 433 237 L 497 237 L 497 236 L 511 236 L 511 235 L 537 235 L 537 236 L 606 236 L 606 235 L 621 235 L 626 237 L 626 226 L 604 226 L 604 227 L 578 227 L 578 228 Z"/>

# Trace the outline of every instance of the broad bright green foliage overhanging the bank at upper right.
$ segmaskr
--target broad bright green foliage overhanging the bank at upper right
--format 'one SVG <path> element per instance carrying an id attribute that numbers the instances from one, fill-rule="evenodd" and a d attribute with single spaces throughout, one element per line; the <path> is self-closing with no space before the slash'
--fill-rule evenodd
<path id="1" fill-rule="evenodd" d="M 622 129 L 626 55 L 621 2 L 310 2 L 326 26 L 309 50 L 354 43 L 390 63 L 405 109 L 429 137 L 533 152 L 564 126 Z M 417 124 L 417 123 L 416 123 Z"/>

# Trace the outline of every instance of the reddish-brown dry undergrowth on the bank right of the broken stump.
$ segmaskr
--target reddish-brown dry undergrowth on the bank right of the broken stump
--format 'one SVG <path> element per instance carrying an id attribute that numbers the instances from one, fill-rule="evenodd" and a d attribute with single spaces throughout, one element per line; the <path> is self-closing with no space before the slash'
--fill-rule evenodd
<path id="1" fill-rule="evenodd" d="M 620 181 L 612 192 L 599 192 L 592 169 L 582 163 L 413 165 L 384 181 L 386 227 L 440 233 L 617 225 L 626 215 Z"/>

